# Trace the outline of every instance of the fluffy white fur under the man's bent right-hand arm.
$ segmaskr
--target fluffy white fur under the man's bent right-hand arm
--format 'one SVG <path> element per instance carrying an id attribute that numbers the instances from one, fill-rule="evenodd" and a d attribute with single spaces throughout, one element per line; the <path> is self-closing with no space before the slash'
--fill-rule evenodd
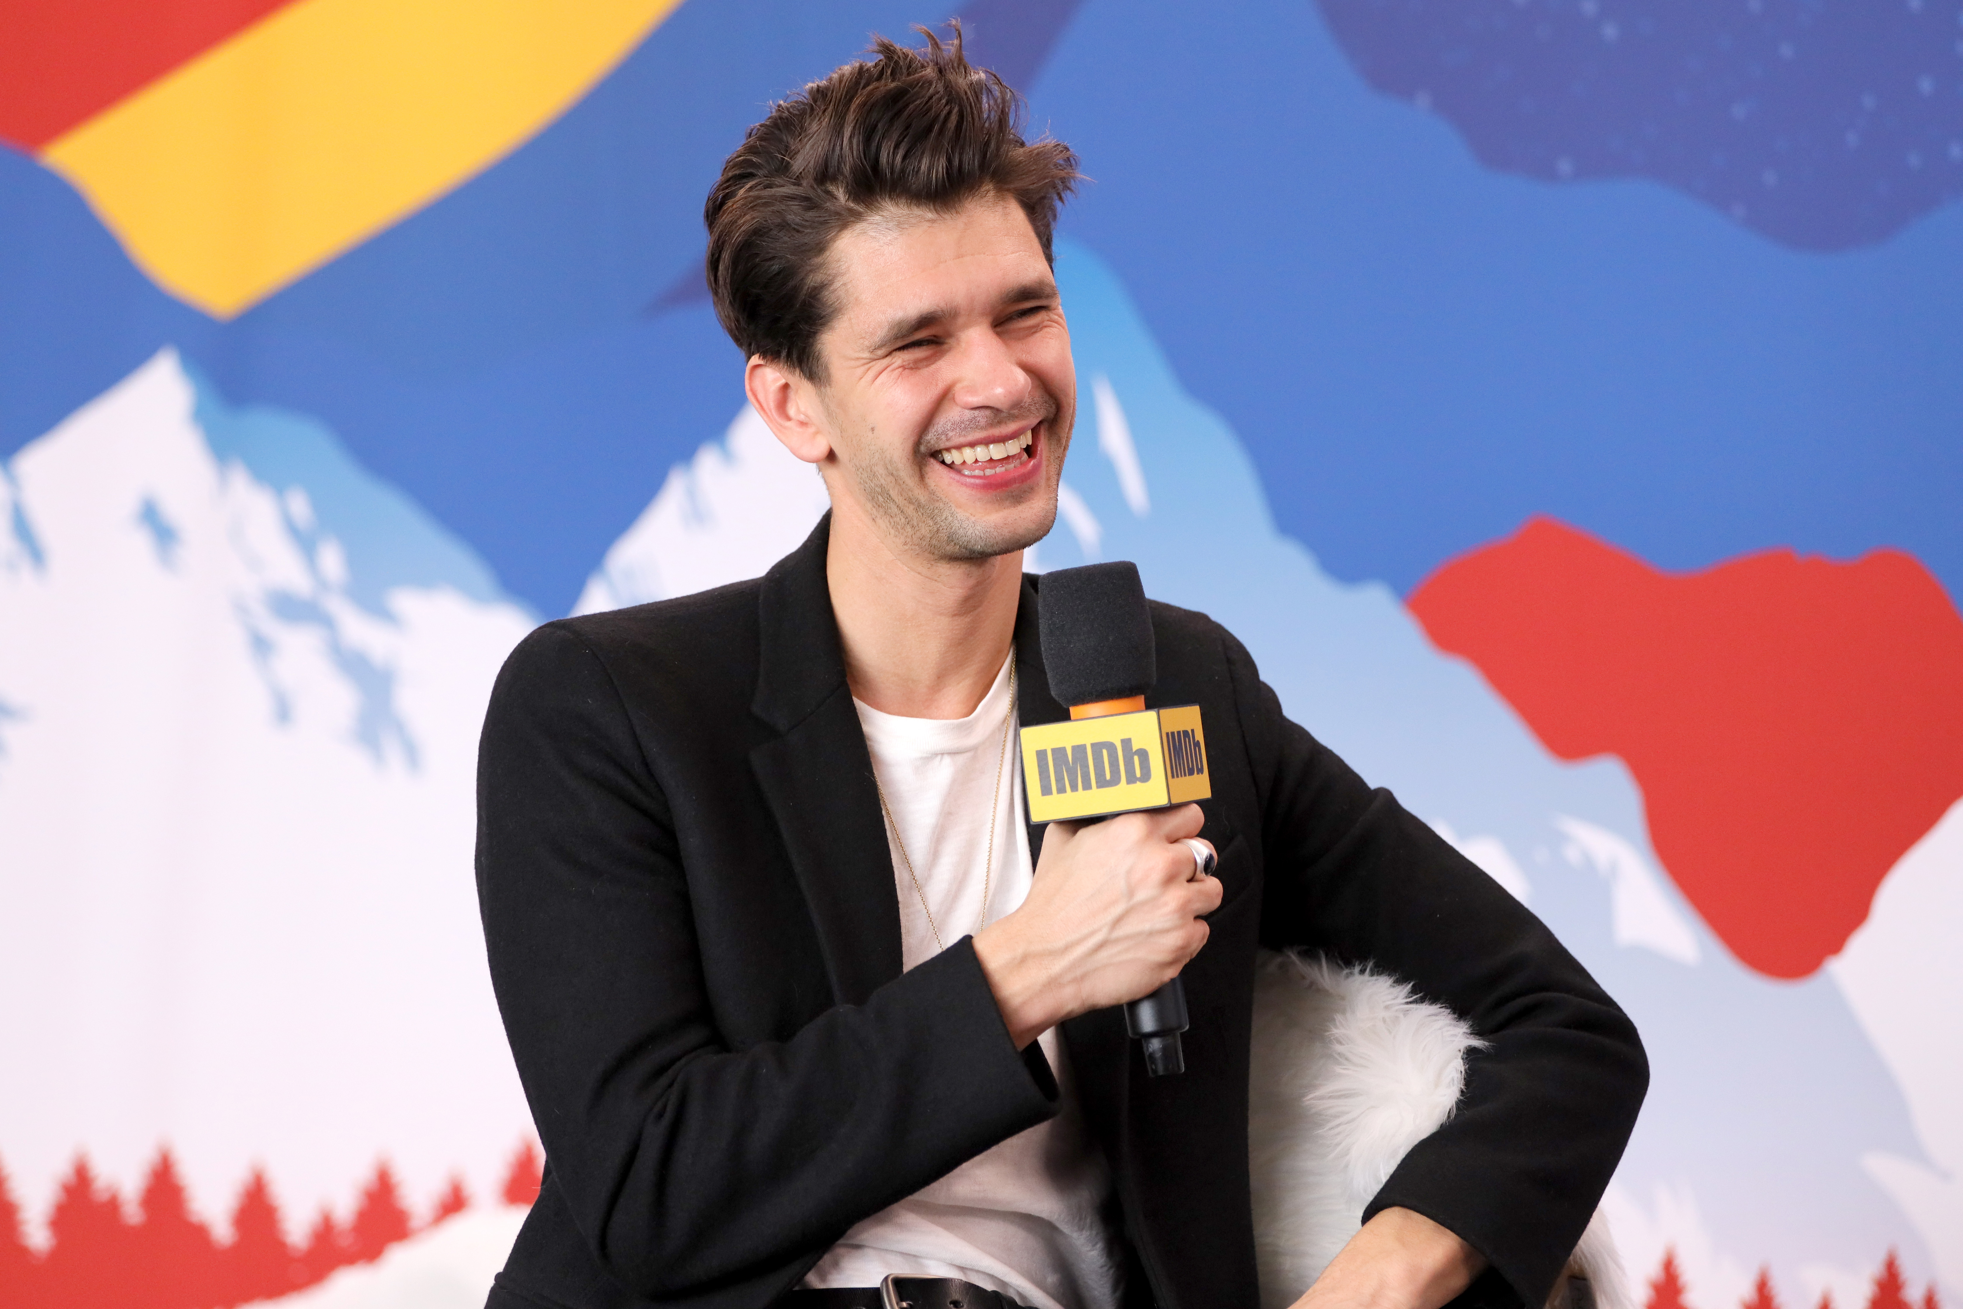
<path id="1" fill-rule="evenodd" d="M 1262 1309 L 1286 1309 L 1356 1234 L 1406 1152 L 1459 1107 L 1480 1042 L 1451 1011 L 1382 973 L 1262 954 L 1254 975 L 1248 1164 Z M 1596 1213 L 1555 1287 L 1586 1278 L 1598 1309 L 1633 1309 Z"/>

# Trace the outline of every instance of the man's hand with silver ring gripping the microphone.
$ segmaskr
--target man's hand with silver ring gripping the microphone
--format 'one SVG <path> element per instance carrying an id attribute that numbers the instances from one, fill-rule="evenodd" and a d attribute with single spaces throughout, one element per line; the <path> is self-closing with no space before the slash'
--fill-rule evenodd
<path id="1" fill-rule="evenodd" d="M 1221 905 L 1194 879 L 1197 805 L 1052 822 L 1021 909 L 976 932 L 976 958 L 1021 1050 L 1064 1019 L 1123 1005 L 1172 981 L 1207 944 L 1199 915 Z"/>

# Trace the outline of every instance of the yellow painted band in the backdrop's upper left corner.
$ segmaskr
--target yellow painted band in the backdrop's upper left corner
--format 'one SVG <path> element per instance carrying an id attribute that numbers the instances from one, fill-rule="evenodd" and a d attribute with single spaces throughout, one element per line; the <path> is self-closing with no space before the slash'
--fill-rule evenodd
<path id="1" fill-rule="evenodd" d="M 679 0 L 296 0 L 41 157 L 232 318 L 530 139 Z"/>

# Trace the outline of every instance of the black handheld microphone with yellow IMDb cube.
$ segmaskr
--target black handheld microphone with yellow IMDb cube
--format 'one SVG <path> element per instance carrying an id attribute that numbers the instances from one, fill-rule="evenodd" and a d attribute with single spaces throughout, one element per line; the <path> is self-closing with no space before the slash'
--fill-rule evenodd
<path id="1" fill-rule="evenodd" d="M 1070 722 L 1021 730 L 1031 820 L 1105 818 L 1213 795 L 1199 707 L 1144 707 L 1158 654 L 1139 565 L 1121 559 L 1044 573 L 1036 597 L 1042 667 Z M 1178 977 L 1125 1005 L 1125 1028 L 1144 1042 L 1146 1073 L 1186 1072 Z"/>

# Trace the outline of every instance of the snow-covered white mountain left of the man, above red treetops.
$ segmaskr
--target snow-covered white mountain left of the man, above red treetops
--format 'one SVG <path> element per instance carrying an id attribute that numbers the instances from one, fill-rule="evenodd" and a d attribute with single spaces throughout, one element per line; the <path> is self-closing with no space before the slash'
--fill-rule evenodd
<path id="1" fill-rule="evenodd" d="M 167 1142 L 222 1219 L 530 1130 L 471 879 L 477 728 L 532 626 L 322 428 L 163 351 L 0 477 L 0 1160 Z M 31 999 L 27 999 L 31 997 Z M 304 1232 L 289 1232 L 298 1240 Z"/>

